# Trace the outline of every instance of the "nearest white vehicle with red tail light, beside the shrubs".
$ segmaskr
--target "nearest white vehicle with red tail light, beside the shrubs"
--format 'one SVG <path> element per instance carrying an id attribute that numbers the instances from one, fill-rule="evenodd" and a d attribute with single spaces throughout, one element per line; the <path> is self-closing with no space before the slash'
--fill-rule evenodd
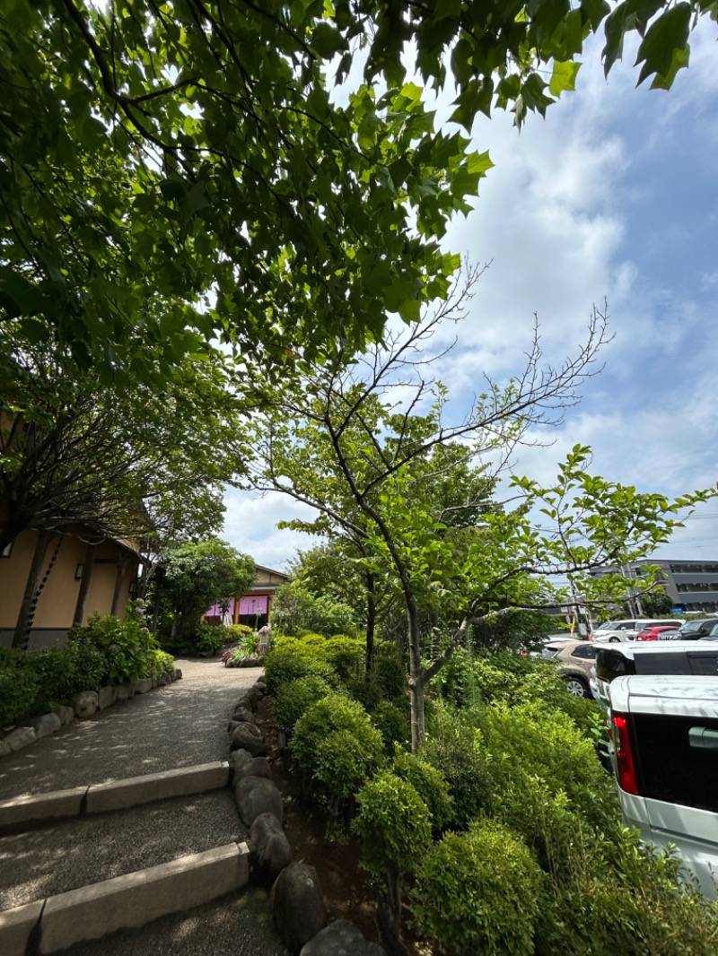
<path id="1" fill-rule="evenodd" d="M 610 685 L 610 723 L 625 823 L 638 827 L 646 842 L 675 847 L 685 880 L 714 898 L 718 680 L 620 677 Z"/>

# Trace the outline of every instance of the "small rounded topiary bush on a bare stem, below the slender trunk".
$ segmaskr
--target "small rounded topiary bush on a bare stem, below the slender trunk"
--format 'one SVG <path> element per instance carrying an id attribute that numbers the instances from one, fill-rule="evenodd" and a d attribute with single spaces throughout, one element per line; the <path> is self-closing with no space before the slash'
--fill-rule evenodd
<path id="1" fill-rule="evenodd" d="M 357 794 L 351 831 L 362 843 L 362 865 L 383 878 L 388 869 L 414 869 L 431 840 L 431 817 L 410 782 L 382 771 Z"/>

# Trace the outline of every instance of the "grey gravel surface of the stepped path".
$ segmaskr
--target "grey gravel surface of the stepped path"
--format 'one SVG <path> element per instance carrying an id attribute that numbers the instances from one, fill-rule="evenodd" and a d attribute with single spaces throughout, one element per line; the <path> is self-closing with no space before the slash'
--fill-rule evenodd
<path id="1" fill-rule="evenodd" d="M 0 758 L 0 799 L 226 760 L 233 706 L 261 671 L 217 660 L 178 660 L 177 666 L 181 681 Z M 6 836 L 0 839 L 0 908 L 245 837 L 228 790 Z M 267 894 L 255 887 L 65 950 L 65 956 L 148 954 L 288 956 Z"/>

